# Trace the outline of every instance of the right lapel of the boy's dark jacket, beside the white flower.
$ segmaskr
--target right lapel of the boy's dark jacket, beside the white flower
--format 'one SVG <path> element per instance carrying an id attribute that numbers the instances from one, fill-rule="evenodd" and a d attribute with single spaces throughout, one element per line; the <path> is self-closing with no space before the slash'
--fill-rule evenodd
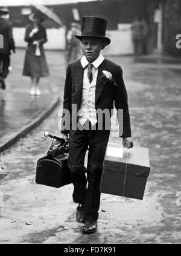
<path id="1" fill-rule="evenodd" d="M 95 87 L 95 103 L 97 103 L 98 98 L 100 97 L 103 88 L 105 86 L 105 83 L 103 81 L 103 79 L 101 77 L 103 77 L 103 70 L 107 70 L 107 64 L 106 64 L 106 60 L 104 59 L 104 61 L 101 63 L 100 67 L 98 68 L 98 75 L 97 75 L 97 84 Z"/>

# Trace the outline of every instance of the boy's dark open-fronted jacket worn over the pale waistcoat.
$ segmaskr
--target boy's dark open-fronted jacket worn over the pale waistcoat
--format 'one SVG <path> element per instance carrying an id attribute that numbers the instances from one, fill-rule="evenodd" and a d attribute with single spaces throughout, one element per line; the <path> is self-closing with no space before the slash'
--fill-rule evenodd
<path id="1" fill-rule="evenodd" d="M 112 80 L 105 79 L 103 70 L 112 74 Z M 77 111 L 80 110 L 83 88 L 84 68 L 81 66 L 80 59 L 68 65 L 66 70 L 66 80 L 64 88 L 63 109 L 72 113 L 72 104 L 77 105 Z M 123 110 L 123 133 L 120 137 L 131 137 L 129 106 L 127 102 L 127 91 L 122 78 L 122 69 L 112 61 L 104 59 L 98 67 L 97 84 L 95 88 L 95 109 L 110 111 L 112 116 L 113 102 L 116 110 Z M 63 114 L 62 117 L 65 115 Z M 63 126 L 62 126 L 63 127 Z M 65 128 L 62 133 L 68 134 L 69 130 Z"/>

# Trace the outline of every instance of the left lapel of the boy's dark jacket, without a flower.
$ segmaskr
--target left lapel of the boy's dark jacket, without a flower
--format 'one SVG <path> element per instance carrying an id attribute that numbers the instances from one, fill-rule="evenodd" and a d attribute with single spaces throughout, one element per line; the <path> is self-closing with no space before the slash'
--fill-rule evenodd
<path id="1" fill-rule="evenodd" d="M 77 109 L 79 109 L 81 104 L 83 74 L 84 74 L 84 69 L 80 61 L 78 61 L 75 64 L 75 68 L 73 68 L 73 70 L 74 70 L 75 93 L 77 95 Z"/>

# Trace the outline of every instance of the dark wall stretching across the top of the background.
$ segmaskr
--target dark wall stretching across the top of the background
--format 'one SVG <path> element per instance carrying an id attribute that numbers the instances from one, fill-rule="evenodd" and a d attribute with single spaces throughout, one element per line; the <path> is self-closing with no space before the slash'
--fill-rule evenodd
<path id="1" fill-rule="evenodd" d="M 163 31 L 162 41 L 164 51 L 174 56 L 181 56 L 181 51 L 176 48 L 176 34 L 181 33 L 181 0 L 104 0 L 79 2 L 77 4 L 48 5 L 60 17 L 67 28 L 74 22 L 72 8 L 77 8 L 81 18 L 86 15 L 94 15 L 109 21 L 107 30 L 116 30 L 119 23 L 131 23 L 135 15 L 145 18 L 149 25 L 148 48 L 149 53 L 156 48 L 157 24 L 154 22 L 154 10 L 163 7 Z M 28 15 L 22 15 L 21 9 L 27 6 L 9 7 L 11 20 L 14 27 L 25 27 L 30 21 Z M 31 8 L 31 7 L 30 7 Z M 56 27 L 48 21 L 46 27 Z"/>

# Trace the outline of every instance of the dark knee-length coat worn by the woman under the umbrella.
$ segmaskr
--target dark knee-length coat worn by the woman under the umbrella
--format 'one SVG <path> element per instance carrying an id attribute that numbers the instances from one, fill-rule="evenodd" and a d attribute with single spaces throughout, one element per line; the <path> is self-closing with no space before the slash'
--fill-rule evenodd
<path id="1" fill-rule="evenodd" d="M 39 25 L 39 31 L 30 38 L 30 32 L 33 30 L 33 24 L 27 26 L 25 33 L 25 41 L 28 42 L 28 47 L 25 55 L 24 62 L 24 76 L 31 77 L 46 77 L 49 75 L 48 65 L 46 63 L 45 52 L 43 44 L 47 41 L 46 30 L 42 25 Z M 33 45 L 34 41 L 39 41 L 40 56 L 35 55 L 36 45 Z"/>

